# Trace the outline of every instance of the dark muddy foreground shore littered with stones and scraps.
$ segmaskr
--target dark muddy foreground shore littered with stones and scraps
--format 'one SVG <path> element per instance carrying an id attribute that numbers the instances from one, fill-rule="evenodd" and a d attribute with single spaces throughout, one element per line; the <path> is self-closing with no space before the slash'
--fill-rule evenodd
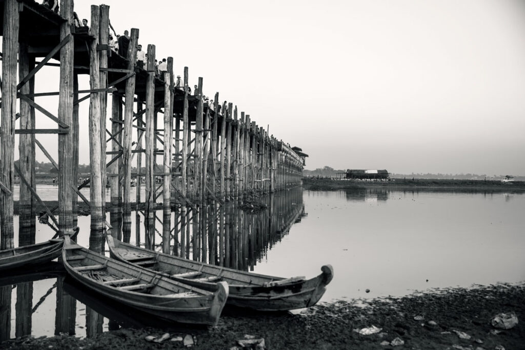
<path id="1" fill-rule="evenodd" d="M 518 324 L 495 334 L 492 316 L 514 312 Z M 418 316 L 418 317 L 416 317 Z M 414 319 L 416 318 L 416 319 Z M 433 321 L 433 322 L 429 322 Z M 0 343 L 20 349 L 167 349 L 184 348 L 181 341 L 149 343 L 146 335 L 195 335 L 195 349 L 230 349 L 245 334 L 264 338 L 266 349 L 525 349 L 525 284 L 499 284 L 472 289 L 443 289 L 403 298 L 339 300 L 300 314 L 223 312 L 208 329 L 120 329 L 80 340 L 75 336 L 22 337 Z M 361 335 L 355 330 L 382 330 Z M 455 332 L 464 332 L 465 339 Z M 386 345 L 394 338 L 404 345 Z M 381 343 L 385 345 L 381 345 Z"/>

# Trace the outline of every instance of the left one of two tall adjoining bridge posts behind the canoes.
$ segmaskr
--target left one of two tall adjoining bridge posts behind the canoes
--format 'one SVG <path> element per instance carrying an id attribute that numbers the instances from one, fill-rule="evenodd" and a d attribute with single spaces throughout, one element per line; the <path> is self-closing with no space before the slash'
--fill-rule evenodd
<path id="1" fill-rule="evenodd" d="M 95 36 L 89 44 L 89 84 L 92 90 L 100 88 L 99 80 L 99 58 L 98 58 L 98 35 L 99 35 L 99 7 L 91 5 L 91 27 L 90 34 Z M 89 99 L 89 161 L 91 169 L 90 181 L 90 205 L 91 205 L 91 236 L 90 242 L 98 242 L 101 239 L 103 229 L 102 215 L 102 145 L 100 142 L 100 96 L 99 92 L 92 92 Z M 62 166 L 60 167 L 62 168 Z M 93 236 L 94 235 L 94 236 Z M 97 239 L 95 239 L 97 236 Z M 100 253 L 101 247 L 90 247 Z"/>

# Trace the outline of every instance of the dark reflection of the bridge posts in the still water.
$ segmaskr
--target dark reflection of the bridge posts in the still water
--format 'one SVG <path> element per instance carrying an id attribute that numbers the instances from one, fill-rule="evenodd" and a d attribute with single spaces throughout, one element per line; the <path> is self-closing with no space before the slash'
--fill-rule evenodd
<path id="1" fill-rule="evenodd" d="M 244 205 L 244 210 L 241 210 L 234 203 L 221 205 L 215 202 L 201 207 L 199 211 L 189 215 L 188 220 L 181 220 L 180 209 L 175 210 L 172 219 L 177 225 L 172 232 L 172 253 L 189 259 L 206 261 L 209 264 L 253 270 L 257 261 L 288 234 L 290 227 L 306 216 L 301 188 L 270 194 L 261 198 L 260 203 L 266 208 L 259 210 L 256 205 L 254 208 Z M 142 216 L 141 213 L 137 215 Z M 144 221 L 143 217 L 142 220 L 137 221 L 135 243 L 150 245 L 156 250 L 161 250 L 162 221 L 157 221 L 159 227 L 151 236 L 144 233 L 146 231 Z M 121 227 L 122 217 L 119 217 L 118 213 L 112 213 L 111 224 L 116 229 Z M 25 236 L 22 231 L 20 226 L 20 237 Z M 173 234 L 175 232 L 184 234 Z M 131 235 L 119 238 L 130 242 Z M 160 243 L 156 243 L 157 241 Z M 101 243 L 90 242 L 90 244 Z M 40 281 L 42 279 L 55 279 L 55 283 L 51 287 L 43 287 Z M 12 319 L 15 323 L 16 337 L 34 334 L 37 327 L 52 327 L 52 314 L 46 314 L 49 321 L 46 325 L 34 324 L 33 315 L 47 298 L 53 298 L 54 295 L 56 296 L 55 335 L 60 333 L 74 335 L 80 331 L 76 327 L 77 315 L 80 315 L 78 312 L 82 309 L 80 303 L 86 305 L 87 337 L 103 332 L 106 329 L 104 324 L 107 324 L 109 330 L 127 326 L 162 326 L 147 315 L 138 317 L 135 311 L 126 311 L 127 308 L 119 308 L 114 302 L 78 287 L 73 281 L 65 278 L 60 264 L 52 263 L 45 270 L 38 272 L 13 271 L 11 276 L 7 274 L 0 276 L 0 341 L 11 337 Z M 14 317 L 11 312 L 13 303 L 16 313 Z M 104 318 L 109 321 L 104 321 Z"/>

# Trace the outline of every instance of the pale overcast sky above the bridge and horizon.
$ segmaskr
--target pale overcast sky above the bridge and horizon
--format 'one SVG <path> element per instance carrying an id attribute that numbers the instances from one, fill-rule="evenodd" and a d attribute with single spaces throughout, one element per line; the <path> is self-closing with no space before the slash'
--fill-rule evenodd
<path id="1" fill-rule="evenodd" d="M 80 18 L 90 18 L 92 2 L 75 1 Z M 525 174 L 521 0 L 106 4 L 117 32 L 139 28 L 139 42 L 172 56 L 176 74 L 189 67 L 191 86 L 202 76 L 205 95 L 218 91 L 301 147 L 306 169 Z M 56 91 L 57 77 L 46 68 L 36 92 Z M 37 100 L 54 112 L 57 101 Z M 37 127 L 53 127 L 46 119 Z M 57 159 L 56 135 L 38 139 Z M 39 150 L 37 159 L 45 160 Z"/>

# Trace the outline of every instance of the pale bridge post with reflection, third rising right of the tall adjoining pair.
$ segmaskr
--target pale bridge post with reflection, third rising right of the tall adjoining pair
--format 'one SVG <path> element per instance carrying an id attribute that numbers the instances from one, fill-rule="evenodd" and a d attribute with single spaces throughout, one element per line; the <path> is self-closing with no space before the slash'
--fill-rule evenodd
<path id="1" fill-rule="evenodd" d="M 170 254 L 171 234 L 171 148 L 173 144 L 173 114 L 171 113 L 170 73 L 164 73 L 164 184 L 163 225 L 162 225 L 162 252 Z"/>

